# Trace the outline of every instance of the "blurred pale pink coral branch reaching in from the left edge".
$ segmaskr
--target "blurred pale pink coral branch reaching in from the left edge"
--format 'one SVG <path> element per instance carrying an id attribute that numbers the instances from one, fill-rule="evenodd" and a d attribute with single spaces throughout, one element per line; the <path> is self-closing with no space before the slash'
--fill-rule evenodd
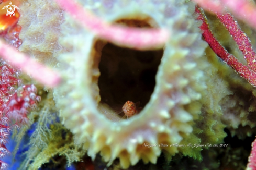
<path id="1" fill-rule="evenodd" d="M 21 68 L 46 86 L 54 87 L 61 81 L 61 77 L 57 72 L 30 59 L 25 54 L 19 53 L 13 47 L 6 45 L 2 41 L 0 41 L 0 56 L 5 60 L 9 60 L 16 68 Z"/>

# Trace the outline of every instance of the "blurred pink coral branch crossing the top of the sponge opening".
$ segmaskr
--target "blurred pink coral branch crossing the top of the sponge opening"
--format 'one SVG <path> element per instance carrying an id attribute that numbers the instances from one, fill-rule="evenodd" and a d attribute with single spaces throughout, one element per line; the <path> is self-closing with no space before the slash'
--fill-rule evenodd
<path id="1" fill-rule="evenodd" d="M 125 47 L 146 50 L 160 48 L 169 39 L 169 31 L 165 29 L 138 29 L 112 26 L 85 11 L 71 0 L 55 0 L 64 10 L 82 25 L 94 32 L 98 37 Z"/>

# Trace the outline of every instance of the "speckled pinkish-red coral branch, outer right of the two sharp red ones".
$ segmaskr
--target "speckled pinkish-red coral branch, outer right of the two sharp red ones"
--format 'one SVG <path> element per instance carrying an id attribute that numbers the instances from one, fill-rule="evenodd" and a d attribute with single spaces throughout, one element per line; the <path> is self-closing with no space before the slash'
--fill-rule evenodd
<path id="1" fill-rule="evenodd" d="M 229 31 L 231 37 L 236 41 L 239 50 L 243 53 L 244 59 L 248 66 L 256 72 L 256 53 L 253 51 L 252 45 L 246 34 L 239 28 L 237 22 L 230 13 L 224 15 L 217 14 L 224 27 Z"/>

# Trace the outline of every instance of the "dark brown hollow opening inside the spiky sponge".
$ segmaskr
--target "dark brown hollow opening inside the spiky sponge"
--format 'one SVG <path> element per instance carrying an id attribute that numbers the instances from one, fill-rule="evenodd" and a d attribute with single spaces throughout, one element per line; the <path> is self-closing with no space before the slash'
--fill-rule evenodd
<path id="1" fill-rule="evenodd" d="M 152 27 L 149 20 L 121 19 L 117 23 L 147 28 Z M 140 102 L 141 110 L 153 93 L 162 55 L 163 50 L 138 51 L 108 42 L 102 49 L 98 66 L 101 72 L 98 79 L 101 103 L 120 113 L 126 101 Z M 121 112 L 119 117 L 123 116 L 124 112 Z"/>

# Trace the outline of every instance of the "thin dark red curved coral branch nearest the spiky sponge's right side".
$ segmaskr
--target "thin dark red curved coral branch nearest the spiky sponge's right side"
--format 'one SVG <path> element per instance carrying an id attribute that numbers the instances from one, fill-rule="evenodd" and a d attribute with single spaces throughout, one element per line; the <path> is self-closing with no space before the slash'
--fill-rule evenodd
<path id="1" fill-rule="evenodd" d="M 235 69 L 238 74 L 246 79 L 252 86 L 256 87 L 256 74 L 247 66 L 244 66 L 242 63 L 238 61 L 238 59 L 229 54 L 225 48 L 219 44 L 219 42 L 214 37 L 212 31 L 210 31 L 209 26 L 206 22 L 205 16 L 202 14 L 201 9 L 196 6 L 196 13 L 199 14 L 198 20 L 203 21 L 202 25 L 199 27 L 203 33 L 203 37 L 205 41 L 209 44 L 212 50 L 217 54 L 218 57 L 224 60 L 230 67 Z"/>

